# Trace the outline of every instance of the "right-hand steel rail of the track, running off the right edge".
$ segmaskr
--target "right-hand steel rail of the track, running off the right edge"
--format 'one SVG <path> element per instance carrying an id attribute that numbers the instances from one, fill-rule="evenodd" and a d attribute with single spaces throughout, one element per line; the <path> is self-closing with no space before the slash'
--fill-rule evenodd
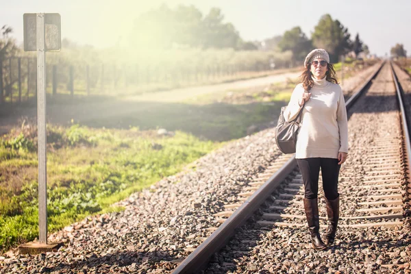
<path id="1" fill-rule="evenodd" d="M 394 83 L 395 83 L 395 90 L 397 90 L 397 99 L 399 104 L 399 109 L 401 110 L 401 123 L 402 123 L 402 130 L 403 136 L 405 140 L 405 147 L 406 147 L 406 172 L 407 172 L 407 179 L 408 184 L 410 184 L 410 175 L 411 175 L 411 143 L 410 143 L 410 131 L 408 130 L 408 121 L 410 121 L 411 117 L 407 116 L 406 109 L 404 108 L 403 104 L 403 89 L 401 84 L 398 82 L 397 74 L 394 71 L 393 62 L 390 62 L 391 73 L 393 75 Z"/>

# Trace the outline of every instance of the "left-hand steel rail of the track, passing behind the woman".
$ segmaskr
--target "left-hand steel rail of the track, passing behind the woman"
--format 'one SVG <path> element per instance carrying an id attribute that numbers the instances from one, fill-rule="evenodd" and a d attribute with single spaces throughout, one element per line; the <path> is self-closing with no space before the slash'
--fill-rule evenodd
<path id="1" fill-rule="evenodd" d="M 353 103 L 362 95 L 366 87 L 371 84 L 371 80 L 382 69 L 384 63 L 385 62 L 381 63 L 379 68 L 366 79 L 365 84 L 359 88 L 358 92 L 351 96 L 345 103 L 347 110 L 351 108 Z M 276 171 L 247 201 L 242 203 L 195 251 L 192 251 L 192 253 L 175 268 L 173 273 L 197 273 L 203 269 L 210 260 L 210 257 L 227 245 L 227 242 L 234 236 L 234 229 L 243 225 L 296 167 L 297 161 L 295 160 L 295 155 L 292 155 L 284 166 Z"/>

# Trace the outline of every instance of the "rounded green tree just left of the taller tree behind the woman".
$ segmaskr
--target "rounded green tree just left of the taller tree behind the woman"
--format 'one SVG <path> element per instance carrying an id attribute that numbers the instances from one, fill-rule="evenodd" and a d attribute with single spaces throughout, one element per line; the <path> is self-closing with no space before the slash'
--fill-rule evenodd
<path id="1" fill-rule="evenodd" d="M 284 32 L 284 36 L 282 36 L 282 40 L 279 41 L 278 47 L 281 51 L 292 51 L 294 60 L 304 60 L 310 52 L 312 44 L 306 34 L 301 31 L 300 27 L 294 27 Z"/>

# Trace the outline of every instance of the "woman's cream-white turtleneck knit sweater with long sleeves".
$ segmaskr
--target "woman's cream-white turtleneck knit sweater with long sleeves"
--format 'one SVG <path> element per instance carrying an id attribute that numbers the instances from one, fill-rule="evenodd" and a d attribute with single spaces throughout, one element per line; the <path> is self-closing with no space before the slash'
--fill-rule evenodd
<path id="1" fill-rule="evenodd" d="M 299 99 L 304 92 L 298 84 L 292 92 L 284 112 L 286 121 L 292 121 L 301 107 Z M 314 79 L 310 100 L 302 112 L 302 123 L 297 136 L 295 158 L 338 158 L 338 151 L 348 153 L 347 110 L 343 90 L 338 84 Z"/>

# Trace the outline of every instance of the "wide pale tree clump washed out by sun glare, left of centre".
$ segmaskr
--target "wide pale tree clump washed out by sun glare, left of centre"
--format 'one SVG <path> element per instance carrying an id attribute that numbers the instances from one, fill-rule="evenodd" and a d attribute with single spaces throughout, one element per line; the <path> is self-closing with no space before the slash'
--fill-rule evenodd
<path id="1" fill-rule="evenodd" d="M 219 8 L 212 8 L 203 17 L 193 5 L 179 5 L 172 10 L 163 4 L 136 18 L 132 42 L 149 49 L 169 49 L 173 45 L 238 49 L 242 45 L 240 35 L 232 23 L 223 23 L 223 19 Z"/>

